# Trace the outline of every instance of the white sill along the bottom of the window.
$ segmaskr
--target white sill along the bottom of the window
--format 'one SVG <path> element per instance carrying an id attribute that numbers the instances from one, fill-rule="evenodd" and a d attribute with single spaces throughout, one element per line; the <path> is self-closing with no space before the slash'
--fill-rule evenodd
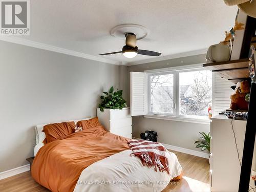
<path id="1" fill-rule="evenodd" d="M 182 121 L 189 123 L 199 123 L 199 124 L 210 124 L 211 120 L 208 118 L 191 118 L 191 117 L 182 117 L 182 116 L 167 116 L 167 115 L 144 115 L 145 118 L 153 119 L 163 119 L 170 121 Z"/>

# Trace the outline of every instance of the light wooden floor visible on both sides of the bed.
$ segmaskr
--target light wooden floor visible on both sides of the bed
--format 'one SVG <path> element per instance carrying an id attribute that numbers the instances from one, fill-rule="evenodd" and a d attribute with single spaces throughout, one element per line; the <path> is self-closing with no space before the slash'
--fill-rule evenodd
<path id="1" fill-rule="evenodd" d="M 174 151 L 173 151 L 174 152 Z M 208 159 L 196 157 L 193 155 L 174 152 L 183 168 L 183 178 L 179 181 L 170 182 L 162 191 L 210 191 L 209 187 L 209 163 Z M 50 190 L 36 183 L 30 172 L 15 175 L 0 180 L 1 192 L 49 192 Z"/>

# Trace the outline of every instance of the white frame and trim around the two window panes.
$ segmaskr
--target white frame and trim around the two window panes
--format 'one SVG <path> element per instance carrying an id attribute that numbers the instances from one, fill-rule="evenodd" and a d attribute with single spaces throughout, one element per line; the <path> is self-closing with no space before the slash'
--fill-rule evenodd
<path id="1" fill-rule="evenodd" d="M 204 71 L 202 67 L 202 63 L 196 65 L 188 65 L 188 66 L 178 66 L 171 68 L 163 68 L 156 70 L 146 70 L 146 83 L 145 83 L 145 114 L 146 118 L 156 118 L 156 119 L 164 119 L 164 120 L 175 120 L 175 121 L 184 121 L 184 122 L 194 122 L 201 124 L 209 124 L 210 120 L 207 116 L 197 116 L 197 115 L 181 115 L 180 114 L 180 73 L 182 72 L 192 72 L 192 71 Z M 174 74 L 174 113 L 153 113 L 150 111 L 151 109 L 151 83 L 150 77 L 152 75 L 164 75 L 164 74 Z M 212 74 L 214 76 L 214 74 Z M 212 80 L 212 88 L 214 87 Z M 213 89 L 211 90 L 213 93 Z M 213 98 L 213 94 L 212 94 Z"/>

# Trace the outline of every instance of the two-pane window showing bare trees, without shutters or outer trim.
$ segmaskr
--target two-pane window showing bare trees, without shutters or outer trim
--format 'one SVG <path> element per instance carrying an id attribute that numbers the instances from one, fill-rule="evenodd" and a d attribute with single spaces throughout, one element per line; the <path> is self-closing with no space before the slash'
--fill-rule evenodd
<path id="1" fill-rule="evenodd" d="M 211 72 L 180 69 L 147 73 L 147 98 L 150 115 L 203 118 L 212 101 Z"/>

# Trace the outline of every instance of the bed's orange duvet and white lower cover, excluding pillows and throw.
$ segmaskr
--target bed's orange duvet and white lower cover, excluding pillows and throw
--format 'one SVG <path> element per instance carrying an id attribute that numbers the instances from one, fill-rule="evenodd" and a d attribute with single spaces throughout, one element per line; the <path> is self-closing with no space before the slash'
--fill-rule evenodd
<path id="1" fill-rule="evenodd" d="M 40 126 L 38 126 L 40 127 Z M 37 129 L 40 133 L 40 129 Z M 36 182 L 51 191 L 161 191 L 181 174 L 174 153 L 167 152 L 170 174 L 143 166 L 131 156 L 128 138 L 93 126 L 47 144 L 37 137 L 31 167 Z"/>

